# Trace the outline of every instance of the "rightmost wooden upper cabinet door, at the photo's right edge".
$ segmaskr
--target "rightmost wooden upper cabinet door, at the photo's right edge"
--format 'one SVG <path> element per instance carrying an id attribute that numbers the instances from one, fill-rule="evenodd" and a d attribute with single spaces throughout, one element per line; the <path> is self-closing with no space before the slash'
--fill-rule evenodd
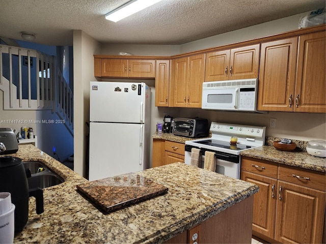
<path id="1" fill-rule="evenodd" d="M 325 45 L 325 32 L 299 37 L 295 112 L 326 112 Z"/>

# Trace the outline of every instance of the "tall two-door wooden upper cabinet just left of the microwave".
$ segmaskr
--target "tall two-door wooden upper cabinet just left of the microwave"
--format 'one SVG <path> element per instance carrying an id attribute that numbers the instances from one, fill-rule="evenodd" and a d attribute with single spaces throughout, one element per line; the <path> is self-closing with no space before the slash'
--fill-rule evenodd
<path id="1" fill-rule="evenodd" d="M 170 107 L 201 108 L 205 54 L 172 59 Z"/>

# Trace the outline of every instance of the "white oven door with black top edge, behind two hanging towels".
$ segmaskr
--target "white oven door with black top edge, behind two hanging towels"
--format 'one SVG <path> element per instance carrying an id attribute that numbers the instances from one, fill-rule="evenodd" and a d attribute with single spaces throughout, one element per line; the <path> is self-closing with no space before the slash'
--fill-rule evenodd
<path id="1" fill-rule="evenodd" d="M 196 146 L 185 145 L 184 147 L 184 163 L 190 165 L 191 156 L 192 156 L 192 148 Z M 198 147 L 196 147 L 198 148 Z M 202 155 L 201 168 L 204 168 L 205 161 L 205 151 L 204 148 L 199 148 Z M 211 150 L 209 150 L 211 151 Z M 220 151 L 214 151 L 215 153 L 215 163 L 216 163 L 216 173 L 220 173 L 223 175 L 230 176 L 232 178 L 239 179 L 240 178 L 240 156 L 222 153 Z"/>

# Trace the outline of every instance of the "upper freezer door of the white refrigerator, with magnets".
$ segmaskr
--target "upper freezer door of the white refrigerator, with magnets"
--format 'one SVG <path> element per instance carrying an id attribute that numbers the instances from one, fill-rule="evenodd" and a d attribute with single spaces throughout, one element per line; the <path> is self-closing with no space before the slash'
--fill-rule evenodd
<path id="1" fill-rule="evenodd" d="M 90 121 L 144 123 L 145 83 L 91 81 Z"/>

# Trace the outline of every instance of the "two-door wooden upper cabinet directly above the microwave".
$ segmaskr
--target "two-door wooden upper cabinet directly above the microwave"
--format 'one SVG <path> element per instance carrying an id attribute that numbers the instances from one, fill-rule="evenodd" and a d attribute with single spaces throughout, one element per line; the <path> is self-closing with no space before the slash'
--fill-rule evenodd
<path id="1" fill-rule="evenodd" d="M 257 78 L 259 46 L 206 53 L 205 81 Z"/>

